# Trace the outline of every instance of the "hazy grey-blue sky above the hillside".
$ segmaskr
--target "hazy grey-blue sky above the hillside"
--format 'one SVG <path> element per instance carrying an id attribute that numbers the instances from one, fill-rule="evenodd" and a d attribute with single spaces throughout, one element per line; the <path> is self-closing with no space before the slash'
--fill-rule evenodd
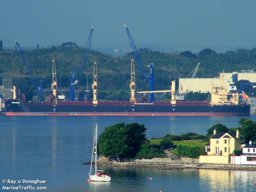
<path id="1" fill-rule="evenodd" d="M 160 52 L 216 52 L 256 46 L 256 1 L 40 1 L 0 0 L 4 48 L 74 42 L 107 54 L 137 47 Z M 116 52 L 114 51 L 116 50 Z"/>

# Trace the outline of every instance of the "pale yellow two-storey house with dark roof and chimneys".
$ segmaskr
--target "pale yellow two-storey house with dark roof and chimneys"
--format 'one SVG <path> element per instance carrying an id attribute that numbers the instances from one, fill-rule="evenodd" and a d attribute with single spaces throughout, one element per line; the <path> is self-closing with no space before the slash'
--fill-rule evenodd
<path id="1" fill-rule="evenodd" d="M 210 143 L 205 145 L 206 156 L 199 157 L 199 163 L 230 163 L 230 154 L 234 150 L 241 149 L 240 144 L 244 143 L 244 137 L 240 131 L 226 133 L 213 131 Z"/>

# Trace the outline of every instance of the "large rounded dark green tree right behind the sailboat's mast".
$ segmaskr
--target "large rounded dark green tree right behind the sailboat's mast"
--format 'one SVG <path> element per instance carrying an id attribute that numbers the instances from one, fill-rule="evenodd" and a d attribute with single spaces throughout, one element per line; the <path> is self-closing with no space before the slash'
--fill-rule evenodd
<path id="1" fill-rule="evenodd" d="M 144 124 L 118 123 L 105 128 L 99 136 L 100 155 L 112 158 L 132 158 L 146 141 Z"/>

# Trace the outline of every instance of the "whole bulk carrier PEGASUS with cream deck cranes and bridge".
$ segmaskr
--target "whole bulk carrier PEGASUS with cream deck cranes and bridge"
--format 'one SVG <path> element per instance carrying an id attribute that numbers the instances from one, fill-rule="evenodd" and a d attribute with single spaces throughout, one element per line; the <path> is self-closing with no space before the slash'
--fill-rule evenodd
<path id="1" fill-rule="evenodd" d="M 54 60 L 53 60 L 54 61 Z M 55 62 L 54 62 L 55 70 Z M 50 102 L 26 102 L 16 98 L 5 100 L 6 116 L 249 116 L 250 105 L 239 103 L 237 91 L 228 91 L 221 85 L 212 84 L 211 101 L 176 101 L 175 81 L 171 89 L 164 91 L 147 91 L 137 93 L 170 92 L 168 101 L 142 103 L 135 98 L 134 60 L 131 63 L 131 101 L 98 101 L 97 100 L 97 63 L 94 62 L 94 78 L 92 84 L 92 101 L 59 101 L 57 98 L 56 71 L 53 73 L 52 100 Z M 72 81 L 71 81 L 72 83 Z M 242 95 L 246 97 L 246 95 Z"/>

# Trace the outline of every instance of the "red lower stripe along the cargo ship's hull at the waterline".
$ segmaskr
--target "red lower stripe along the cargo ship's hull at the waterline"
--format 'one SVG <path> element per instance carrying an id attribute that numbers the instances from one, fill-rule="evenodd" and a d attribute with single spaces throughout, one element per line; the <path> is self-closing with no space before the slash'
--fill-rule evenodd
<path id="1" fill-rule="evenodd" d="M 247 113 L 211 113 L 211 112 L 192 112 L 192 113 L 105 113 L 105 112 L 6 112 L 6 116 L 247 116 Z"/>

